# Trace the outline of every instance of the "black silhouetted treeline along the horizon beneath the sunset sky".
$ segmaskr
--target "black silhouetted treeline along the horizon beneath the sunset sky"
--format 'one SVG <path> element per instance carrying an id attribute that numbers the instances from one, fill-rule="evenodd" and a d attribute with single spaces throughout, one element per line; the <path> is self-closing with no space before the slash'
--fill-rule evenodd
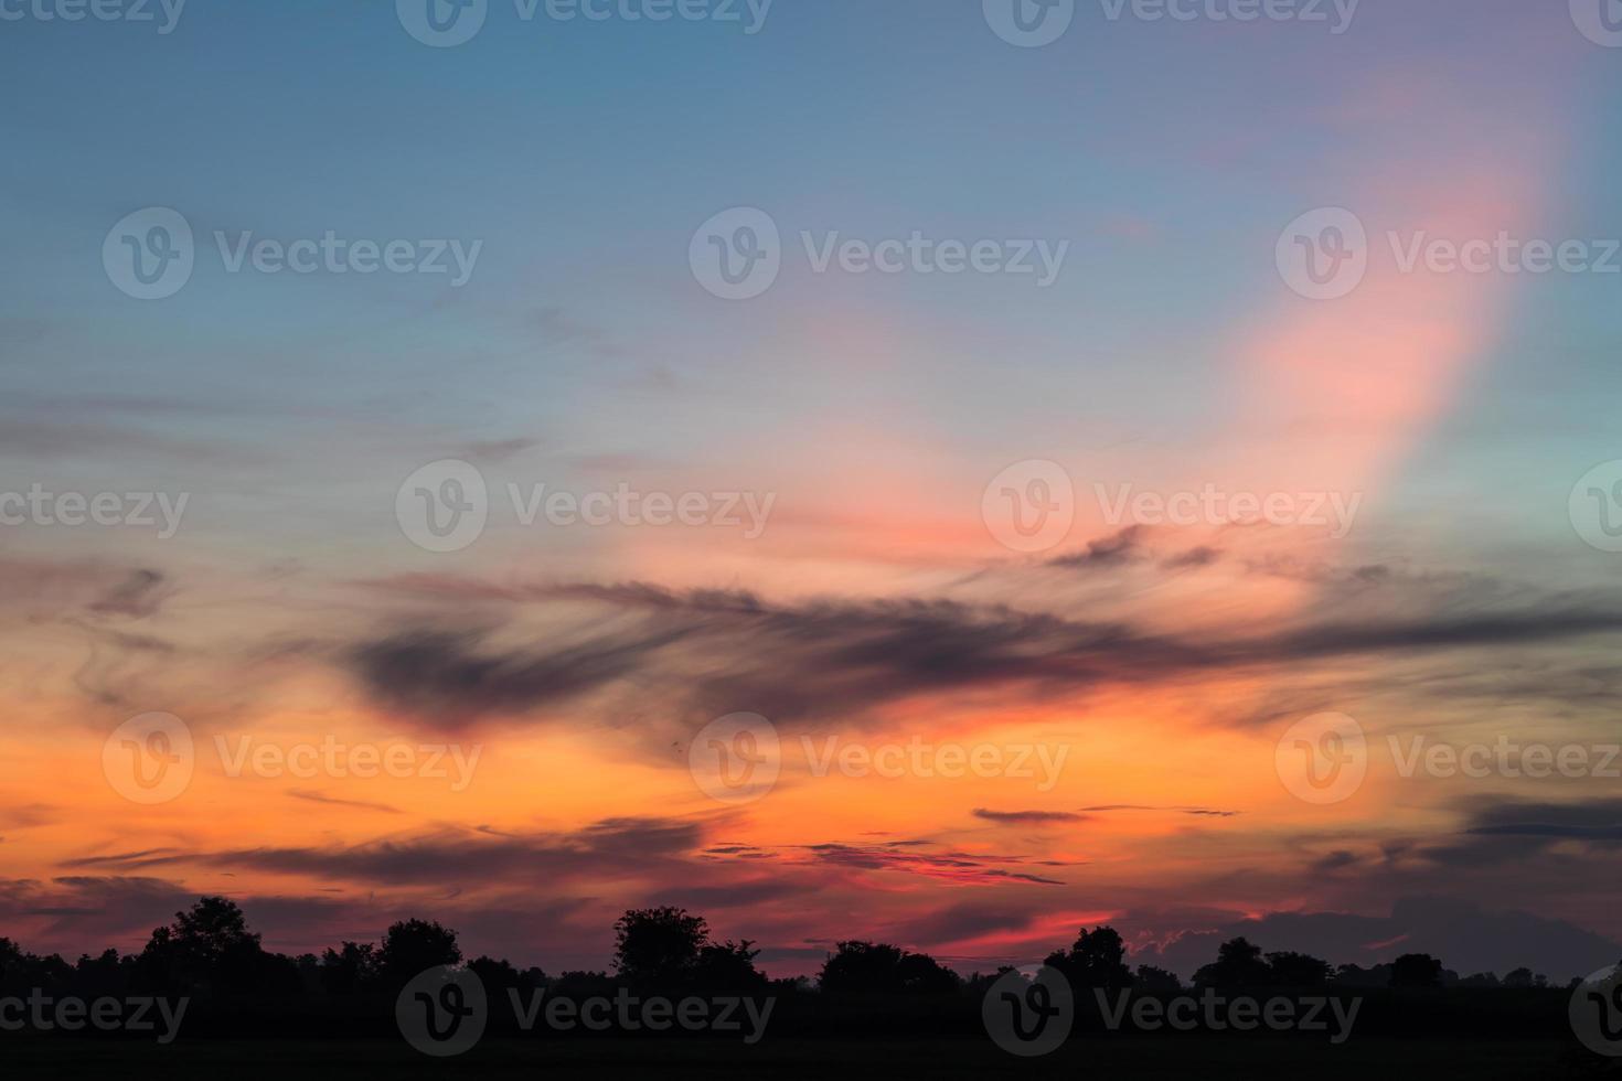
<path id="1" fill-rule="evenodd" d="M 772 997 L 782 1031 L 920 1028 L 972 1032 L 980 1028 L 980 1000 L 1009 969 L 960 976 L 934 958 L 876 942 L 839 942 L 813 979 L 769 979 L 759 971 L 749 940 L 720 942 L 701 916 L 678 908 L 628 911 L 615 924 L 611 971 L 548 974 L 490 956 L 464 958 L 454 930 L 433 921 L 402 921 L 375 943 L 344 942 L 320 956 L 287 956 L 264 950 L 242 909 L 225 898 L 201 898 L 152 932 L 139 953 L 62 956 L 24 953 L 0 938 L 0 998 L 42 992 L 54 998 L 187 997 L 188 1034 L 289 1031 L 289 1018 L 305 1034 L 357 1036 L 391 1032 L 394 998 L 414 977 L 438 966 L 466 966 L 488 992 L 491 1023 L 511 1026 L 513 1005 L 535 992 L 586 1000 L 621 989 L 649 997 Z M 1596 959 L 1603 961 L 1603 959 Z M 1304 953 L 1264 953 L 1244 938 L 1221 943 L 1216 958 L 1194 974 L 1191 987 L 1155 966 L 1132 968 L 1121 935 L 1111 927 L 1082 929 L 1066 950 L 1045 964 L 1061 971 L 1079 1002 L 1090 992 L 1169 997 L 1204 989 L 1225 993 L 1337 993 L 1371 1000 L 1400 998 L 1374 1024 L 1403 1029 L 1419 1002 L 1426 1026 L 1455 1016 L 1497 1036 L 1502 1015 L 1538 1015 L 1543 1031 L 1564 1016 L 1565 990 L 1518 969 L 1504 976 L 1460 977 L 1427 955 L 1405 955 L 1390 964 L 1330 966 Z M 1491 1000 L 1483 995 L 1495 995 Z M 1491 1008 L 1483 1013 L 1483 1003 Z M 1426 1005 L 1427 1003 L 1427 1005 Z M 1374 1015 L 1380 1011 L 1375 1010 Z M 1471 1019 L 1473 1018 L 1473 1019 Z M 1448 1028 L 1453 1028 L 1452 1024 Z"/>

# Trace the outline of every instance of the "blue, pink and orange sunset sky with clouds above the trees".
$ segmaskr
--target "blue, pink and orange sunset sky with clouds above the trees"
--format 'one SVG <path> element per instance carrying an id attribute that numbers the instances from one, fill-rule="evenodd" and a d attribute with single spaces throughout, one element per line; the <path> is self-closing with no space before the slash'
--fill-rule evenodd
<path id="1" fill-rule="evenodd" d="M 1616 963 L 1619 13 L 1019 2 L 0 0 L 0 934 Z"/>

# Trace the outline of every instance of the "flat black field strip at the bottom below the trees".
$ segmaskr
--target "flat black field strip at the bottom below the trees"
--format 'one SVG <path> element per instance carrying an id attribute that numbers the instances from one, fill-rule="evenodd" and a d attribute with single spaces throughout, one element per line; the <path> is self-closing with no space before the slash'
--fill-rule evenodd
<path id="1" fill-rule="evenodd" d="M 491 1039 L 461 1058 L 433 1060 L 389 1040 L 0 1040 L 3 1078 L 1612 1078 L 1575 1042 L 1400 1040 L 1353 1037 L 1340 1047 L 1291 1037 L 1077 1037 L 1022 1060 L 985 1039 L 720 1040 Z"/>

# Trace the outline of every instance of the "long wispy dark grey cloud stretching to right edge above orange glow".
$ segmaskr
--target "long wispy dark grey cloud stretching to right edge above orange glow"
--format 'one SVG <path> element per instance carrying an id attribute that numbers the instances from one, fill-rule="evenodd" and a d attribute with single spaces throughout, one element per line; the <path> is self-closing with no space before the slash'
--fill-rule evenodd
<path id="1" fill-rule="evenodd" d="M 775 605 L 743 590 L 676 592 L 647 583 L 491 587 L 407 579 L 386 585 L 440 603 L 480 600 L 526 611 L 584 605 L 610 614 L 586 632 L 504 645 L 493 645 L 488 630 L 446 630 L 415 616 L 341 655 L 378 703 L 441 728 L 524 716 L 613 686 L 634 686 L 686 721 L 751 710 L 779 723 L 832 716 L 848 723 L 915 695 L 998 692 L 1048 700 L 1302 661 L 1408 661 L 1622 632 L 1622 605 L 1570 596 L 1515 609 L 1452 608 L 1192 639 L 1126 621 L 949 600 Z"/>

